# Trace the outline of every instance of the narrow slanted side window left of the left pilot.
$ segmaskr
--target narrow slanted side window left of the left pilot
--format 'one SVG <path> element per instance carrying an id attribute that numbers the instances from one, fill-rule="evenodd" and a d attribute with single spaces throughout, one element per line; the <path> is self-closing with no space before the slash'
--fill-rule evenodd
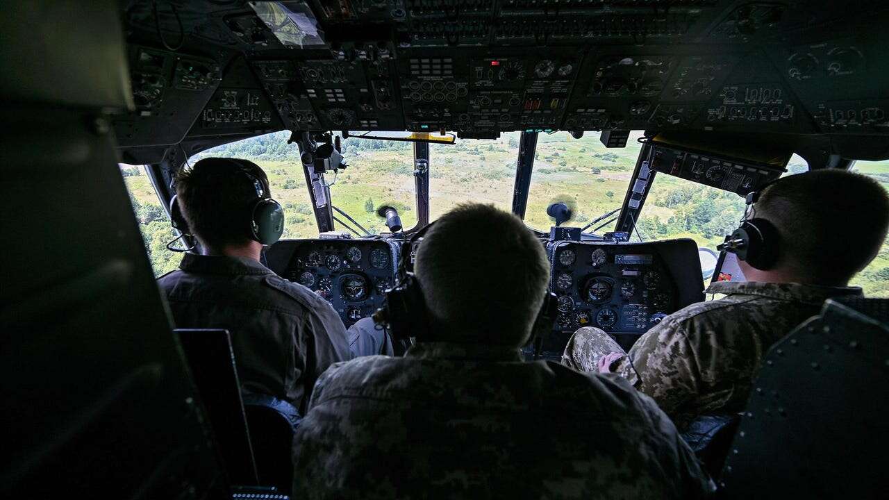
<path id="1" fill-rule="evenodd" d="M 120 164 L 120 173 L 124 176 L 126 190 L 130 193 L 132 213 L 136 215 L 145 251 L 155 270 L 155 276 L 161 276 L 179 266 L 180 255 L 167 250 L 167 243 L 176 238 L 176 231 L 170 225 L 170 217 L 157 199 L 155 188 L 145 173 L 142 165 Z"/>

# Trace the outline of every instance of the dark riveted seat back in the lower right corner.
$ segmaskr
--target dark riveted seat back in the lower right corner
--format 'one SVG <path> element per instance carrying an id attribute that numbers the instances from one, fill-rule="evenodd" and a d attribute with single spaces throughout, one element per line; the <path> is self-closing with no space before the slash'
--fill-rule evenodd
<path id="1" fill-rule="evenodd" d="M 825 302 L 765 356 L 720 483 L 736 498 L 889 491 L 889 299 Z"/>

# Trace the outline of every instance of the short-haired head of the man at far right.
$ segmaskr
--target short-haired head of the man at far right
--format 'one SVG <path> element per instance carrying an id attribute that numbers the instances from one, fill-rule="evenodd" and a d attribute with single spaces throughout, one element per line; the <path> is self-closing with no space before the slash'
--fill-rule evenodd
<path id="1" fill-rule="evenodd" d="M 845 285 L 874 259 L 889 229 L 886 190 L 839 169 L 783 177 L 753 208 L 781 235 L 775 267 L 822 285 Z"/>

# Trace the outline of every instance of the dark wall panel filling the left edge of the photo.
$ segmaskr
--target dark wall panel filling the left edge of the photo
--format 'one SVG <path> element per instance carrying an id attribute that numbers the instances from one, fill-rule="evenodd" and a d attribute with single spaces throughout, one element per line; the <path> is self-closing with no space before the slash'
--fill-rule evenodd
<path id="1" fill-rule="evenodd" d="M 117 2 L 0 16 L 0 497 L 225 495 L 117 166 Z"/>

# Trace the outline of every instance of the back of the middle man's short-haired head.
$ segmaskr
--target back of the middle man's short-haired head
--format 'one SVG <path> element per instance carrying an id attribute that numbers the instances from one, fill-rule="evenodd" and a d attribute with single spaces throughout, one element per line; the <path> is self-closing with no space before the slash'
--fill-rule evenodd
<path id="1" fill-rule="evenodd" d="M 541 242 L 492 205 L 442 215 L 423 238 L 415 268 L 430 336 L 448 342 L 524 344 L 549 283 Z"/>

